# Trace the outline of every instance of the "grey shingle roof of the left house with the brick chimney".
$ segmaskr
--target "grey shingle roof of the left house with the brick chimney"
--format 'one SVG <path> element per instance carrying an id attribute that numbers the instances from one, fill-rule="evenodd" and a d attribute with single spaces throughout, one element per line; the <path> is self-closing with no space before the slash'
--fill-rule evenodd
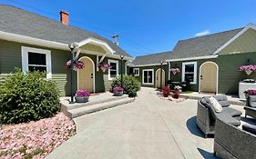
<path id="1" fill-rule="evenodd" d="M 71 25 L 63 25 L 42 15 L 25 11 L 11 5 L 0 5 L 0 31 L 53 41 L 61 44 L 81 42 L 89 37 L 106 42 L 116 55 L 130 57 L 118 45 L 100 35 Z"/>

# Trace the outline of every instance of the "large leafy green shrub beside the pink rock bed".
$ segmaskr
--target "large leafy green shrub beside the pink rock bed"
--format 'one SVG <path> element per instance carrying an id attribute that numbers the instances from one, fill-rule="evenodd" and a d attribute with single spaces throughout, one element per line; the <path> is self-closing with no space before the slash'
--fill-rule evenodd
<path id="1" fill-rule="evenodd" d="M 46 74 L 20 69 L 8 75 L 0 84 L 0 122 L 16 124 L 39 120 L 59 110 L 59 92 L 55 82 Z"/>

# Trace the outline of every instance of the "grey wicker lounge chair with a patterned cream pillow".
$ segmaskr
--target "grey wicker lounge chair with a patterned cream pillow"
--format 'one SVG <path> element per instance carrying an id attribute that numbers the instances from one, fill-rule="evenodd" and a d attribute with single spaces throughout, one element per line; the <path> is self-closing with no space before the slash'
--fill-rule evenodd
<path id="1" fill-rule="evenodd" d="M 219 94 L 213 96 L 222 106 L 223 110 L 220 114 L 215 113 L 209 97 L 205 96 L 198 102 L 197 125 L 205 134 L 205 138 L 209 134 L 214 134 L 215 121 L 217 118 L 229 124 L 239 126 L 241 124 L 241 111 L 230 107 L 230 103 L 226 95 Z"/>

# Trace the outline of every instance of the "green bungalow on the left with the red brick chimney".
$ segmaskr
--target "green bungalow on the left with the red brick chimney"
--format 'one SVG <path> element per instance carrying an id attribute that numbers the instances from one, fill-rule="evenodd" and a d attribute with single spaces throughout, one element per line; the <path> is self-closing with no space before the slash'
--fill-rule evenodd
<path id="1" fill-rule="evenodd" d="M 108 39 L 87 30 L 68 25 L 68 13 L 60 12 L 60 22 L 10 5 L 0 5 L 0 80 L 15 71 L 46 71 L 56 81 L 62 96 L 70 95 L 70 59 L 68 45 L 77 42 L 74 58 L 85 68 L 74 75 L 74 91 L 87 89 L 108 91 L 111 81 L 126 72 L 128 53 Z M 97 64 L 110 64 L 104 72 Z M 124 65 L 121 67 L 121 63 Z"/>

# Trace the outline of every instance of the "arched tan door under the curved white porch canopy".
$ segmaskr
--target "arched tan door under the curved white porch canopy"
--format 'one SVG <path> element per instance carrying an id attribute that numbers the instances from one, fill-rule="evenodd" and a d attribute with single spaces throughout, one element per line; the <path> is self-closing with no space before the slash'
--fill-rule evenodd
<path id="1" fill-rule="evenodd" d="M 84 57 L 80 59 L 80 61 L 84 62 L 85 67 L 83 69 L 77 70 L 78 74 L 78 89 L 87 90 L 90 93 L 94 92 L 94 68 L 93 62 Z"/>

